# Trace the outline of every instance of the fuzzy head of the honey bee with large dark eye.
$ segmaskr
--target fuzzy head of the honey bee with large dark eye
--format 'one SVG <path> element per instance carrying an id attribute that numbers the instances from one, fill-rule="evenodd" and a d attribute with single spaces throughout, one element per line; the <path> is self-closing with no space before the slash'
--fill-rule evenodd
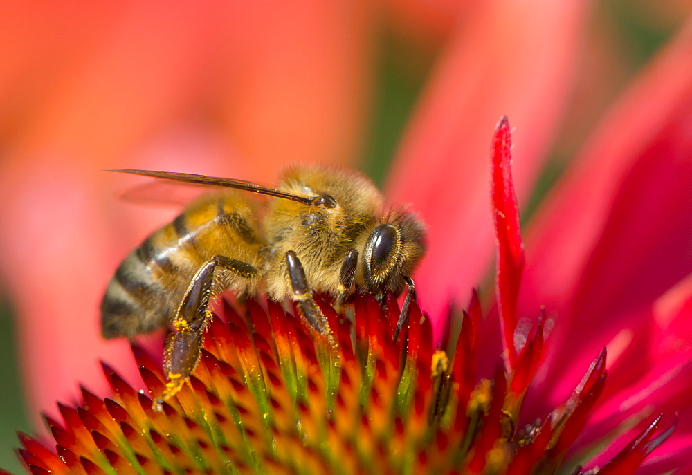
<path id="1" fill-rule="evenodd" d="M 425 252 L 423 223 L 416 214 L 390 214 L 367 236 L 363 250 L 363 287 L 377 297 L 399 294 Z"/>

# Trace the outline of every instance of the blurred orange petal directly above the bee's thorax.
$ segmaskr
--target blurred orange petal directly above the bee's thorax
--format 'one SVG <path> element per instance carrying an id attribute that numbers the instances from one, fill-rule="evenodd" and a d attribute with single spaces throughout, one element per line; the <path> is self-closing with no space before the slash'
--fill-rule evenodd
<path id="1" fill-rule="evenodd" d="M 354 162 L 371 93 L 372 3 L 226 3 L 231 57 L 207 100 L 257 177 L 277 163 Z"/>

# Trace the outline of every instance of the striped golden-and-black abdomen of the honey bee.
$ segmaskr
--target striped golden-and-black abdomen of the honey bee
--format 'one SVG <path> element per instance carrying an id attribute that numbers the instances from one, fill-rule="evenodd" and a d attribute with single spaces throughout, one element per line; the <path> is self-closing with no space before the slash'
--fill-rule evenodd
<path id="1" fill-rule="evenodd" d="M 164 326 L 203 263 L 222 254 L 261 267 L 265 245 L 246 201 L 203 196 L 122 261 L 101 302 L 102 335 L 134 337 Z"/>

